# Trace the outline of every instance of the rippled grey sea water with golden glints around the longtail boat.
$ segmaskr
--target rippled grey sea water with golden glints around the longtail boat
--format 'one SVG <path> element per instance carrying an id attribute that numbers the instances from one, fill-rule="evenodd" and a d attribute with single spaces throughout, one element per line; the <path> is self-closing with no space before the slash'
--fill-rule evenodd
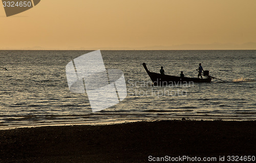
<path id="1" fill-rule="evenodd" d="M 91 51 L 0 51 L 0 129 L 142 120 L 256 120 L 256 51 L 101 51 L 105 67 L 124 73 L 127 97 L 93 113 L 87 94 L 70 92 L 65 66 Z M 153 86 L 152 72 L 197 77 L 202 63 L 226 82 Z"/>

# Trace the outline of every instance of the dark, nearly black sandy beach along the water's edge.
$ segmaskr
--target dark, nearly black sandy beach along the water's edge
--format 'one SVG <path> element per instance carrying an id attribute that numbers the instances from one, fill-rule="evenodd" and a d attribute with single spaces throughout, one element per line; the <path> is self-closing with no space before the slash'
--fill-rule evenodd
<path id="1" fill-rule="evenodd" d="M 147 162 L 256 156 L 256 121 L 155 121 L 0 130 L 1 162 Z"/>

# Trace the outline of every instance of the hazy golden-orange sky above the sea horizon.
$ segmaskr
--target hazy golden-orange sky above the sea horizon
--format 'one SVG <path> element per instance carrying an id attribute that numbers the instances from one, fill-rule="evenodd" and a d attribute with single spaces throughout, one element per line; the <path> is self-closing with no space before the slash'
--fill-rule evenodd
<path id="1" fill-rule="evenodd" d="M 41 0 L 10 17 L 0 6 L 0 49 L 256 42 L 255 0 Z"/>

